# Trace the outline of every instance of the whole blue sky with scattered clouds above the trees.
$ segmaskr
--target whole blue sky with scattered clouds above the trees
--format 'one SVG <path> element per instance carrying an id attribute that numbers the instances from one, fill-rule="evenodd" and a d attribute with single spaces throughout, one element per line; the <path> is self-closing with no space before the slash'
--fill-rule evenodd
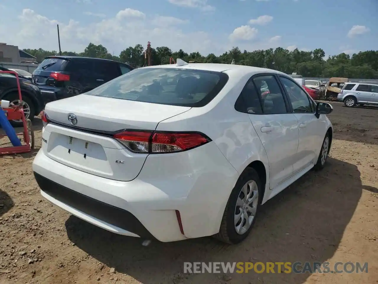
<path id="1" fill-rule="evenodd" d="M 378 46 L 377 0 L 5 0 L 0 11 L 0 40 L 20 48 L 57 50 L 57 23 L 62 50 L 93 42 L 115 55 L 147 41 L 206 55 L 232 46 L 326 55 Z"/>

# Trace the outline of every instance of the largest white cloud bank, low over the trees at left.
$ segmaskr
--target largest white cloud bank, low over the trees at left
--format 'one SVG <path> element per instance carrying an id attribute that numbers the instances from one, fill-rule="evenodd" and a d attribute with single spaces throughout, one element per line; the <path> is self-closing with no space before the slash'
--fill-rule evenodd
<path id="1" fill-rule="evenodd" d="M 31 9 L 23 9 L 15 25 L 0 24 L 0 38 L 19 48 L 58 50 L 56 25 L 59 24 L 63 51 L 82 52 L 92 42 L 102 44 L 110 53 L 117 55 L 129 46 L 147 45 L 147 41 L 151 42 L 152 47 L 183 48 L 186 52 L 198 51 L 206 55 L 225 51 L 217 44 L 219 41 L 204 31 L 183 32 L 180 25 L 187 20 L 175 17 L 147 17 L 141 11 L 127 8 L 113 17 L 108 15 L 107 19 L 84 24 L 75 20 L 60 22 L 53 15 L 45 17 Z"/>

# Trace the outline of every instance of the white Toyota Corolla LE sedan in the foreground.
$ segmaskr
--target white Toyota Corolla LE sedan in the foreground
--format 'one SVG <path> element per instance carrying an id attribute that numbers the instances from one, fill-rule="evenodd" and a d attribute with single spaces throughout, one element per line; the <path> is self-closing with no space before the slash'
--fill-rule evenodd
<path id="1" fill-rule="evenodd" d="M 108 231 L 238 243 L 324 167 L 331 111 L 285 73 L 178 59 L 48 103 L 33 171 L 43 197 Z"/>

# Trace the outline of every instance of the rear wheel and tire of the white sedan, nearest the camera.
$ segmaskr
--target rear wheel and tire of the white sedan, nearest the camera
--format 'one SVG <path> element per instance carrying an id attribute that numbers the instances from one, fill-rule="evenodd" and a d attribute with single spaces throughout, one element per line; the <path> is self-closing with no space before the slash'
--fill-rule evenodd
<path id="1" fill-rule="evenodd" d="M 262 200 L 262 184 L 256 170 L 246 168 L 237 180 L 223 213 L 218 240 L 236 244 L 251 231 Z"/>

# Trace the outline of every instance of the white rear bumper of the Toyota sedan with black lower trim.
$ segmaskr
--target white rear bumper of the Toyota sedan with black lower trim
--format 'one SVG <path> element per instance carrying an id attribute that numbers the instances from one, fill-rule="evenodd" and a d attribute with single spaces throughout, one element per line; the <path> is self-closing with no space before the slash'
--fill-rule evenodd
<path id="1" fill-rule="evenodd" d="M 161 242 L 218 233 L 239 174 L 213 143 L 169 156 L 148 156 L 132 181 L 67 167 L 42 150 L 34 159 L 33 171 L 43 197 L 113 233 Z"/>

